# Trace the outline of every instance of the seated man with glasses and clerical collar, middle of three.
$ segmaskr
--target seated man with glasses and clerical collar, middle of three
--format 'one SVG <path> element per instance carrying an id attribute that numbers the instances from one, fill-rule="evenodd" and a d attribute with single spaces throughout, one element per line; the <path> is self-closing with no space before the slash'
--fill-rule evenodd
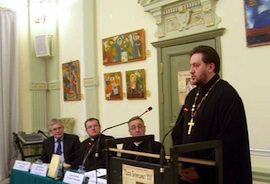
<path id="1" fill-rule="evenodd" d="M 77 166 L 81 165 L 85 171 L 106 168 L 105 140 L 113 137 L 101 134 L 101 126 L 96 118 L 87 119 L 84 126 L 89 138 L 80 145 Z"/>

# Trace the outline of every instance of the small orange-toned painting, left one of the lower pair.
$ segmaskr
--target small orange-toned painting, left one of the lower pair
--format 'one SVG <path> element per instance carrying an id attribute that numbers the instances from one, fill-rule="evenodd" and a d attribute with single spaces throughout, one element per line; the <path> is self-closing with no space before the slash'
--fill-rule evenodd
<path id="1" fill-rule="evenodd" d="M 122 100 L 122 74 L 121 72 L 104 73 L 106 100 Z"/>

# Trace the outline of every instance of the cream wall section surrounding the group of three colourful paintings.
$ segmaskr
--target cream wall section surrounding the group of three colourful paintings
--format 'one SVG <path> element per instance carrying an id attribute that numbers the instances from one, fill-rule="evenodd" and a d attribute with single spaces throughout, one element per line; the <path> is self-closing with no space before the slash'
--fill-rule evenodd
<path id="1" fill-rule="evenodd" d="M 158 81 L 157 81 L 157 53 L 151 42 L 157 41 L 154 37 L 156 25 L 154 18 L 145 13 L 143 7 L 136 0 L 125 1 L 117 0 L 117 2 L 101 0 L 97 6 L 99 10 L 99 40 L 121 33 L 130 32 L 138 29 L 145 30 L 146 49 L 150 53 L 144 61 L 126 63 L 113 66 L 102 65 L 102 45 L 98 42 L 98 62 L 100 76 L 100 112 L 102 122 L 105 126 L 128 121 L 131 117 L 140 115 L 149 106 L 153 110 L 143 116 L 146 124 L 146 131 L 149 134 L 155 134 L 155 138 L 159 140 L 159 110 L 158 110 Z M 146 86 L 150 92 L 150 96 L 146 100 L 127 100 L 126 98 L 126 77 L 125 71 L 134 69 L 145 69 Z M 125 93 L 121 101 L 105 100 L 103 73 L 122 72 L 123 91 Z M 128 136 L 127 125 L 108 131 L 115 137 Z"/>

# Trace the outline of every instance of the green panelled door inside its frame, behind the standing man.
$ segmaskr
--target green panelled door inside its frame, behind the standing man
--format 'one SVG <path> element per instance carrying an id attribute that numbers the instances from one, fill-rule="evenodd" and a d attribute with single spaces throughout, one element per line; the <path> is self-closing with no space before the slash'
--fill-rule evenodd
<path id="1" fill-rule="evenodd" d="M 206 41 L 199 41 L 194 43 L 181 44 L 176 46 L 169 46 L 161 48 L 160 59 L 160 90 L 161 97 L 161 136 L 160 141 L 164 138 L 164 135 L 173 128 L 182 105 L 179 103 L 181 96 L 179 96 L 178 90 L 178 72 L 189 71 L 189 53 L 190 51 L 199 45 L 209 45 L 216 47 L 216 40 L 210 39 Z M 172 146 L 171 135 L 169 134 L 165 139 L 166 154 L 169 154 L 169 148 Z"/>

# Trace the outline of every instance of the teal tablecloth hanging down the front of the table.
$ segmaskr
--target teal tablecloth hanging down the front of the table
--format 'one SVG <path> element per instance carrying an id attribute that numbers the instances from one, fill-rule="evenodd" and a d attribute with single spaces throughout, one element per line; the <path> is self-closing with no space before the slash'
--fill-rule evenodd
<path id="1" fill-rule="evenodd" d="M 10 184 L 66 184 L 60 180 L 31 174 L 30 172 L 11 170 Z"/>

